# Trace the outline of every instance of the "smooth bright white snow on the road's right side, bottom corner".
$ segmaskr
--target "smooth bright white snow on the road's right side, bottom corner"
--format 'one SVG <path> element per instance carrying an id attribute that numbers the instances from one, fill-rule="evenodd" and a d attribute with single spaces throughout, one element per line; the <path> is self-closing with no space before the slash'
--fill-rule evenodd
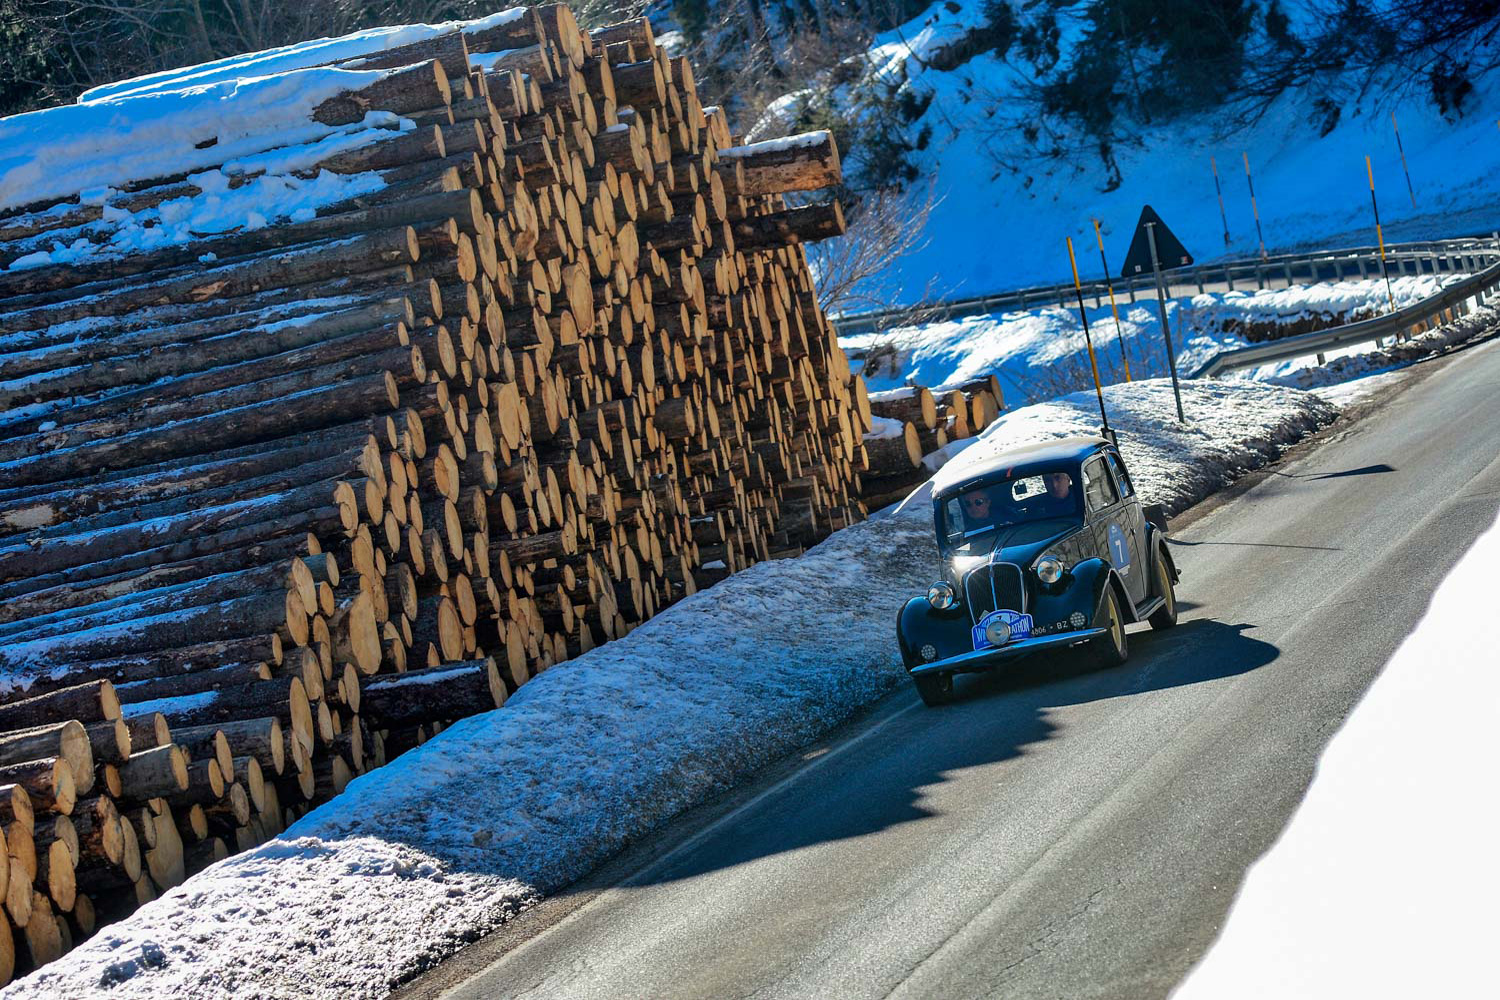
<path id="1" fill-rule="evenodd" d="M 1492 994 L 1496 562 L 1500 523 L 1329 742 L 1178 1000 Z"/>

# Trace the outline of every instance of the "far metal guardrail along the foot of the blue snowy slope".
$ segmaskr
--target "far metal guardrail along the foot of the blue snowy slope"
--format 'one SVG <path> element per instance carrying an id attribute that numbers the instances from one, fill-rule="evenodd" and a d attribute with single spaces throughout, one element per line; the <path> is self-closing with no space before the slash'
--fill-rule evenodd
<path id="1" fill-rule="evenodd" d="M 1500 247 L 1500 234 L 1486 238 L 1462 240 L 1431 240 L 1425 243 L 1392 243 L 1386 246 L 1386 270 L 1392 277 L 1402 274 L 1449 274 L 1458 271 L 1476 271 L 1482 267 L 1484 256 L 1492 256 Z M 1184 295 L 1208 291 L 1209 286 L 1222 285 L 1226 291 L 1239 288 L 1270 288 L 1275 282 L 1282 286 L 1330 282 L 1344 277 L 1378 277 L 1380 249 L 1374 246 L 1350 247 L 1344 250 L 1318 250 L 1314 253 L 1282 253 L 1278 256 L 1252 258 L 1242 261 L 1220 261 L 1185 267 L 1162 274 L 1168 295 Z M 1150 274 L 1142 274 L 1114 282 L 1114 298 L 1119 303 L 1134 303 L 1137 297 L 1155 298 L 1155 283 Z M 1094 306 L 1102 307 L 1108 303 L 1108 286 L 1104 282 L 1086 282 L 1083 285 L 1084 300 L 1094 300 Z M 1041 306 L 1072 307 L 1077 303 L 1077 292 L 1072 285 L 1041 285 L 1036 288 L 1020 288 L 993 295 L 975 295 L 970 298 L 954 298 L 940 303 L 908 306 L 902 309 L 879 309 L 844 316 L 832 316 L 837 336 L 856 333 L 878 333 L 890 325 L 898 324 L 902 318 L 910 316 L 914 310 L 921 310 L 924 322 L 962 319 L 978 316 L 1004 309 L 1038 309 Z"/>

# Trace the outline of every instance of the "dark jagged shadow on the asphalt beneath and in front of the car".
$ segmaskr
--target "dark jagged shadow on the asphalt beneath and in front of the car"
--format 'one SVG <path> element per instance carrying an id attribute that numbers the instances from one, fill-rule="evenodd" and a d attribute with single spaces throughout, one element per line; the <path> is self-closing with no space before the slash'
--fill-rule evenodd
<path id="1" fill-rule="evenodd" d="M 1062 657 L 1005 675 L 960 678 L 952 705 L 896 711 L 884 721 L 850 727 L 831 744 L 804 748 L 783 768 L 800 777 L 778 777 L 770 787 L 758 783 L 748 790 L 748 807 L 730 808 L 717 820 L 700 817 L 699 823 L 720 826 L 626 882 L 669 883 L 903 826 L 912 828 L 916 849 L 926 837 L 921 825 L 940 811 L 932 802 L 944 798 L 940 789 L 951 775 L 993 768 L 1041 744 L 1068 739 L 1048 721 L 1050 709 L 1209 684 L 1280 655 L 1274 645 L 1245 636 L 1246 628 L 1204 618 L 1168 631 L 1132 631 L 1131 660 L 1110 670 L 1089 669 L 1082 657 Z M 916 702 L 910 690 L 894 697 Z M 996 769 L 994 795 L 1005 795 L 1005 774 Z M 952 808 L 951 802 L 944 808 Z M 696 825 L 690 819 L 686 826 Z"/>

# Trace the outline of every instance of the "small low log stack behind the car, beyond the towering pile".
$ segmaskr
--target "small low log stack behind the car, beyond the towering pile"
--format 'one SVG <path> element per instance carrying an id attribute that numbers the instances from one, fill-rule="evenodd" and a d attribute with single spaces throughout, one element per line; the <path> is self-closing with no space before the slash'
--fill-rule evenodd
<path id="1" fill-rule="evenodd" d="M 972 438 L 1005 408 L 1000 382 L 993 375 L 942 388 L 904 385 L 868 393 L 874 415 L 864 436 L 866 466 L 860 498 L 868 510 L 906 499 L 932 477 L 922 457 L 950 441 Z"/>

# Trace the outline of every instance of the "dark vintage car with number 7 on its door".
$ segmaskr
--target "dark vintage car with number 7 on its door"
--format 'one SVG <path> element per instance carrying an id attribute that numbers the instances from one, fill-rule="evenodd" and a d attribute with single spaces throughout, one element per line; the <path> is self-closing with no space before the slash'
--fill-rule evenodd
<path id="1" fill-rule="evenodd" d="M 927 705 L 952 699 L 957 673 L 1038 652 L 1083 646 L 1101 667 L 1120 664 L 1126 624 L 1178 621 L 1166 517 L 1142 507 L 1104 438 L 946 466 L 933 477 L 933 513 L 942 579 L 896 628 Z"/>

